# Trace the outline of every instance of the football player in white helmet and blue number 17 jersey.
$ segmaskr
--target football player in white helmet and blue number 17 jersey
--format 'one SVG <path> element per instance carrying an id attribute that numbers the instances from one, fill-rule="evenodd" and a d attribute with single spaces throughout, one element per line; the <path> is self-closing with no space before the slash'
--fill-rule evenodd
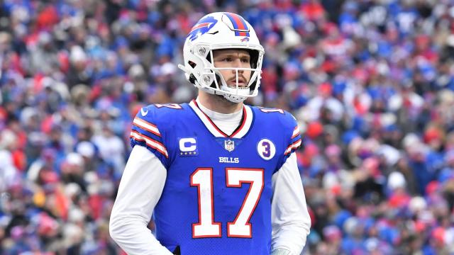
<path id="1" fill-rule="evenodd" d="M 300 254 L 311 221 L 297 122 L 243 103 L 260 86 L 264 50 L 253 27 L 210 13 L 183 50 L 179 68 L 199 96 L 135 116 L 111 237 L 128 254 Z"/>

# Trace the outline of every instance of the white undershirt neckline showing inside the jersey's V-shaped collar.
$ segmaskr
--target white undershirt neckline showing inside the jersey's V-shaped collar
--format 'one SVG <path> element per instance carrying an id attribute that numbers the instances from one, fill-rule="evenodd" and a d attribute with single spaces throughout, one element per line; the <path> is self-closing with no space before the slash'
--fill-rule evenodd
<path id="1" fill-rule="evenodd" d="M 203 106 L 200 103 L 199 98 L 196 99 L 196 102 L 200 110 L 203 111 L 211 119 L 211 121 L 213 121 L 214 124 L 216 124 L 216 126 L 227 135 L 231 135 L 233 131 L 238 128 L 238 125 L 240 125 L 241 118 L 243 118 L 243 108 L 236 113 L 218 113 Z"/>

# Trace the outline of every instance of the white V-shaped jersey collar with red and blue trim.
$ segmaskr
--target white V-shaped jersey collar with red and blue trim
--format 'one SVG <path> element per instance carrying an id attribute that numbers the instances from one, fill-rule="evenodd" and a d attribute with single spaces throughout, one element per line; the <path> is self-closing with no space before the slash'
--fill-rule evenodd
<path id="1" fill-rule="evenodd" d="M 220 128 L 218 128 L 203 111 L 201 111 L 195 100 L 192 100 L 191 103 L 189 103 L 189 106 L 191 106 L 192 110 L 194 110 L 201 122 L 204 123 L 206 129 L 208 129 L 214 137 L 243 138 L 248 133 L 253 123 L 252 109 L 243 104 L 243 118 L 240 121 L 240 125 L 238 125 L 238 128 L 236 128 L 235 131 L 233 131 L 232 135 L 227 135 Z"/>

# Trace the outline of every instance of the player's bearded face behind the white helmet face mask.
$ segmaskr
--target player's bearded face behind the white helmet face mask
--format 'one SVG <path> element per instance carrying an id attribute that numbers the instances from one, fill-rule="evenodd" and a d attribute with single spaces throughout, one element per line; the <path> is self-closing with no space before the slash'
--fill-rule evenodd
<path id="1" fill-rule="evenodd" d="M 247 50 L 214 50 L 214 67 L 250 68 L 250 55 Z M 236 69 L 219 70 L 226 84 L 236 88 Z M 238 86 L 248 86 L 250 70 L 238 70 Z"/>

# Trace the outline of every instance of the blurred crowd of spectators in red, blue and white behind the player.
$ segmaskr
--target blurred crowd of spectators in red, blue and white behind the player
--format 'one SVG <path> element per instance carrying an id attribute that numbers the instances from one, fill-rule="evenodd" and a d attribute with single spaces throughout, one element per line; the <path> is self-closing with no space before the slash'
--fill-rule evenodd
<path id="1" fill-rule="evenodd" d="M 265 47 L 248 103 L 299 122 L 304 253 L 454 254 L 453 0 L 1 0 L 0 254 L 123 252 L 131 120 L 194 98 L 176 64 L 212 11 Z"/>

